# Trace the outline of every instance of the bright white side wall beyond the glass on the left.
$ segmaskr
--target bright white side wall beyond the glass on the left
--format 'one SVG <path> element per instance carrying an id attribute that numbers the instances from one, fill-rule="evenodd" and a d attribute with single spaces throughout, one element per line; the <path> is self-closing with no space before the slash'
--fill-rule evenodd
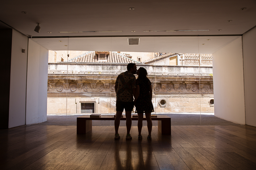
<path id="1" fill-rule="evenodd" d="M 26 124 L 47 120 L 48 50 L 28 41 Z"/>

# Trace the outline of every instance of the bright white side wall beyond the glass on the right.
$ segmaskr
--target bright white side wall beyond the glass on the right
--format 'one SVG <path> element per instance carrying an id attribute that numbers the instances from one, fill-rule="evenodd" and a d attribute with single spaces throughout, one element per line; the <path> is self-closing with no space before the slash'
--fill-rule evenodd
<path id="1" fill-rule="evenodd" d="M 245 124 L 242 37 L 212 54 L 214 115 Z"/>

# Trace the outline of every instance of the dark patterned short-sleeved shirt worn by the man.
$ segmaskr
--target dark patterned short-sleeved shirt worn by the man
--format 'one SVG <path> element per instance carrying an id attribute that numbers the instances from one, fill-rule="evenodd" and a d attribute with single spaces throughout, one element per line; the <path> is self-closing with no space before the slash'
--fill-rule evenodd
<path id="1" fill-rule="evenodd" d="M 136 77 L 133 73 L 125 71 L 117 76 L 116 101 L 132 102 L 133 88 L 136 88 Z"/>

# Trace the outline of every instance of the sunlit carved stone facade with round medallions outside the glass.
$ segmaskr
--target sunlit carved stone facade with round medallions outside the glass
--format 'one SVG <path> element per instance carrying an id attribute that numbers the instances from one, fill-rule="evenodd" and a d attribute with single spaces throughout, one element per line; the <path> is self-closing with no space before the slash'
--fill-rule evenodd
<path id="1" fill-rule="evenodd" d="M 93 103 L 95 113 L 115 114 L 114 83 L 127 70 L 127 63 L 121 63 L 121 58 L 113 60 L 120 63 L 109 63 L 108 58 L 106 62 L 96 62 L 97 56 L 94 62 L 78 62 L 85 58 L 77 57 L 69 62 L 49 63 L 47 114 L 84 114 L 82 103 Z M 123 58 L 135 62 L 129 56 Z M 211 66 L 153 65 L 138 61 L 136 65 L 148 71 L 155 112 L 214 112 L 214 104 L 210 102 L 213 101 Z"/>

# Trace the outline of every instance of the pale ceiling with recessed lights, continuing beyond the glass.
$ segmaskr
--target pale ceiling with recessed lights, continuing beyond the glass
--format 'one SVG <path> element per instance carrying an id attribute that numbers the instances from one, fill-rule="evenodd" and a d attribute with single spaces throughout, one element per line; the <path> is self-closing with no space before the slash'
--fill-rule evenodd
<path id="1" fill-rule="evenodd" d="M 24 35 L 32 36 L 33 41 L 48 50 L 97 50 L 101 45 L 101 50 L 112 51 L 179 52 L 187 48 L 191 49 L 187 50 L 191 53 L 212 53 L 256 25 L 255 0 L 9 0 L 2 1 L 1 7 L 0 29 L 6 29 L 10 25 Z M 135 9 L 129 10 L 130 7 Z M 227 22 L 228 20 L 232 21 Z M 34 31 L 37 22 L 41 23 L 39 33 Z M 132 30 L 135 32 L 131 32 Z M 145 30 L 163 32 L 144 32 Z M 48 31 L 51 33 L 47 33 Z M 60 31 L 122 32 L 59 33 Z M 185 37 L 170 37 L 179 35 Z M 197 35 L 207 37 L 189 37 Z M 140 37 L 140 45 L 128 46 L 127 36 Z M 59 43 L 61 39 L 63 42 Z M 68 47 L 63 45 L 65 41 L 69 41 L 65 44 Z"/>

